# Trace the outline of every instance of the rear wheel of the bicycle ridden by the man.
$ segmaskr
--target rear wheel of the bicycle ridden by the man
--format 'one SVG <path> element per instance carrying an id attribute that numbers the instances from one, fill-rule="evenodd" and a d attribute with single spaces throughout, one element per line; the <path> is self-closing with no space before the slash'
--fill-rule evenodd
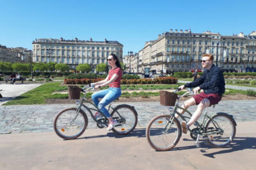
<path id="1" fill-rule="evenodd" d="M 212 122 L 214 120 L 218 123 L 220 128 L 224 131 L 223 134 L 220 132 L 218 134 L 206 135 L 206 141 L 214 148 L 223 148 L 233 141 L 236 136 L 236 123 L 233 118 L 224 113 L 218 113 L 218 115 L 214 115 L 211 119 L 209 119 L 205 125 L 204 132 L 214 132 L 218 131 L 215 123 Z"/>

